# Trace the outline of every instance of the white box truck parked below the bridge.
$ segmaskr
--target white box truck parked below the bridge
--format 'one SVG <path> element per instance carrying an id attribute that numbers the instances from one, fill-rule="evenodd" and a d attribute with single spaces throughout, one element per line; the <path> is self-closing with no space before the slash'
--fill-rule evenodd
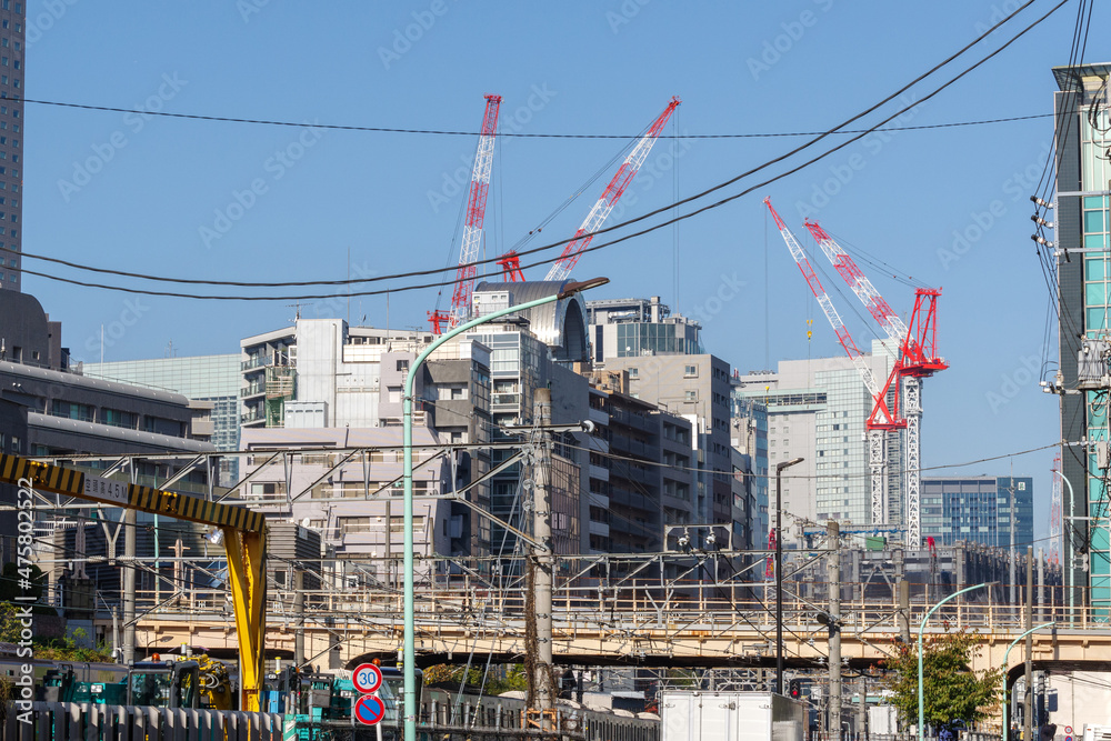
<path id="1" fill-rule="evenodd" d="M 660 693 L 661 741 L 802 741 L 807 708 L 773 692 Z"/>

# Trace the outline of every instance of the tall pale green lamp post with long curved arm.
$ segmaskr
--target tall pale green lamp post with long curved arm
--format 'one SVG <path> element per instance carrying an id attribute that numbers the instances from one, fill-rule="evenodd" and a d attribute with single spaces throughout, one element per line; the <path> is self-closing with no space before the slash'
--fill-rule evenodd
<path id="1" fill-rule="evenodd" d="M 597 288 L 610 282 L 609 278 L 592 278 L 581 282 L 564 283 L 561 291 L 552 293 L 542 299 L 526 301 L 512 307 L 499 309 L 478 319 L 472 319 L 466 324 L 460 324 L 453 330 L 440 336 L 428 348 L 424 349 L 417 360 L 409 367 L 409 375 L 406 378 L 404 397 L 402 399 L 402 414 L 404 417 L 404 648 L 402 649 L 402 671 L 404 673 L 404 741 L 417 741 L 417 650 L 414 640 L 414 618 L 413 618 L 413 385 L 417 381 L 417 371 L 428 357 L 437 348 L 448 340 L 468 332 L 480 324 L 493 321 L 507 314 L 526 311 L 533 307 L 552 303 L 560 299 L 565 299 L 579 291 Z"/>

